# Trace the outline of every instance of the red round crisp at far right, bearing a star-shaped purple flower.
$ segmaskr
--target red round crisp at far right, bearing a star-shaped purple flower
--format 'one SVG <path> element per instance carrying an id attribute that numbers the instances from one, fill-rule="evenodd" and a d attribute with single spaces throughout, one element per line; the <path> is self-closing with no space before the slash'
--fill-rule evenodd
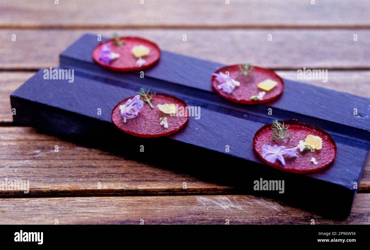
<path id="1" fill-rule="evenodd" d="M 257 155 L 262 159 L 263 162 L 272 166 L 273 168 L 277 168 L 283 171 L 292 172 L 292 173 L 309 173 L 309 172 L 316 172 L 322 170 L 329 166 L 330 163 L 335 158 L 337 153 L 337 146 L 334 140 L 327 134 L 327 132 L 323 131 L 320 128 L 316 128 L 314 126 L 304 124 L 297 120 L 287 120 L 287 121 L 279 121 L 280 123 L 289 125 L 290 131 L 289 133 L 293 134 L 290 139 L 282 140 L 275 140 L 271 139 L 271 125 L 266 124 L 260 128 L 254 138 L 253 138 L 253 146 Z M 276 160 L 274 163 L 266 161 L 262 157 L 262 146 L 263 145 L 270 145 L 274 146 L 286 146 L 286 148 L 294 148 L 299 144 L 299 141 L 305 141 L 307 135 L 314 135 L 319 136 L 322 139 L 322 148 L 319 150 L 315 150 L 311 152 L 309 149 L 303 150 L 300 152 L 299 148 L 296 151 L 297 157 L 294 156 L 284 156 L 285 165 L 283 165 L 279 160 Z M 317 165 L 315 165 L 311 158 L 315 158 Z"/>

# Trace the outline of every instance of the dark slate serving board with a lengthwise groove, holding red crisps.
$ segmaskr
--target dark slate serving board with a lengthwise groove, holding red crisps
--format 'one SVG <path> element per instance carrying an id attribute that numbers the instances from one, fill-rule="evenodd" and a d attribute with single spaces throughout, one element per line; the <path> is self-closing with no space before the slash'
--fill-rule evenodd
<path id="1" fill-rule="evenodd" d="M 59 68 L 74 70 L 73 83 L 44 80 L 40 70 L 14 91 L 10 96 L 16 108 L 14 122 L 237 186 L 241 193 L 274 197 L 319 213 L 350 213 L 357 192 L 354 182 L 360 182 L 370 149 L 370 99 L 284 79 L 283 94 L 275 101 L 236 104 L 212 90 L 211 74 L 222 64 L 162 51 L 159 63 L 140 78 L 139 72 L 112 72 L 95 64 L 91 53 L 98 43 L 97 36 L 86 34 L 61 53 Z M 330 78 L 325 84 L 330 84 Z M 184 129 L 166 138 L 124 134 L 112 124 L 111 111 L 140 87 L 175 95 L 188 106 L 200 106 L 200 119 L 189 118 Z M 272 115 L 268 115 L 269 108 Z M 273 119 L 298 119 L 327 131 L 337 144 L 333 164 L 305 175 L 266 166 L 255 155 L 252 139 Z M 144 153 L 139 152 L 140 145 Z M 230 152 L 225 152 L 225 145 Z M 253 181 L 260 178 L 285 180 L 285 193 L 254 191 Z"/>

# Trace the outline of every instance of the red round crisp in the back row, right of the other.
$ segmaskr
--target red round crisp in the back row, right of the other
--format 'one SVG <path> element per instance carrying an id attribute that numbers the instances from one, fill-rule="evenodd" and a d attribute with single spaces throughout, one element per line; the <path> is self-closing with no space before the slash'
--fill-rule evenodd
<path id="1" fill-rule="evenodd" d="M 230 65 L 215 71 L 215 74 L 219 74 L 220 72 L 226 74 L 226 72 L 228 71 L 229 77 L 231 79 L 240 82 L 240 86 L 235 87 L 235 89 L 231 93 L 226 93 L 222 91 L 222 89 L 218 89 L 218 85 L 221 83 L 216 80 L 215 75 L 212 75 L 212 86 L 216 90 L 216 92 L 223 98 L 226 98 L 229 101 L 239 102 L 243 104 L 258 104 L 270 102 L 279 97 L 279 95 L 283 92 L 284 81 L 275 72 L 268 70 L 267 68 L 253 66 L 252 74 L 245 76 L 239 75 L 240 72 L 239 66 L 240 66 L 239 64 Z M 265 81 L 267 79 L 276 81 L 277 82 L 276 86 L 270 89 L 269 91 L 265 91 L 263 89 L 258 88 L 257 85 L 260 82 Z M 253 95 L 258 95 L 259 92 L 262 91 L 266 92 L 262 100 L 250 99 L 250 97 L 252 97 Z"/>

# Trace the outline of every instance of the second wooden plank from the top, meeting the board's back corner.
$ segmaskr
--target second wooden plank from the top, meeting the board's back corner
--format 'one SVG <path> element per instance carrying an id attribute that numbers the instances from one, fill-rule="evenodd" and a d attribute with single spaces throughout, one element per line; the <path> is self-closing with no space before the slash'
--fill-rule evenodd
<path id="1" fill-rule="evenodd" d="M 28 6 L 28 4 L 27 4 Z M 273 69 L 370 68 L 366 30 L 0 30 L 0 68 L 34 69 L 59 65 L 59 54 L 86 32 L 142 36 L 163 50 L 235 64 L 250 61 Z M 16 34 L 16 41 L 11 41 Z M 183 41 L 183 35 L 186 41 Z M 272 41 L 268 41 L 268 35 Z M 358 41 L 353 41 L 357 34 Z"/>

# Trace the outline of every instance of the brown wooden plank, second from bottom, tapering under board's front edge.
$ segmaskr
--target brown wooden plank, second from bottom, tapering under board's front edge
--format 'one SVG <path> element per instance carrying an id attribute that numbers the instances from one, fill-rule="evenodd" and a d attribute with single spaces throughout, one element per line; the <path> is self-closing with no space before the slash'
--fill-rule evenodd
<path id="1" fill-rule="evenodd" d="M 27 127 L 0 128 L 0 158 L 0 180 L 29 180 L 31 195 L 225 193 L 231 189 L 176 169 L 85 148 Z M 0 191 L 1 196 L 22 193 Z"/>

